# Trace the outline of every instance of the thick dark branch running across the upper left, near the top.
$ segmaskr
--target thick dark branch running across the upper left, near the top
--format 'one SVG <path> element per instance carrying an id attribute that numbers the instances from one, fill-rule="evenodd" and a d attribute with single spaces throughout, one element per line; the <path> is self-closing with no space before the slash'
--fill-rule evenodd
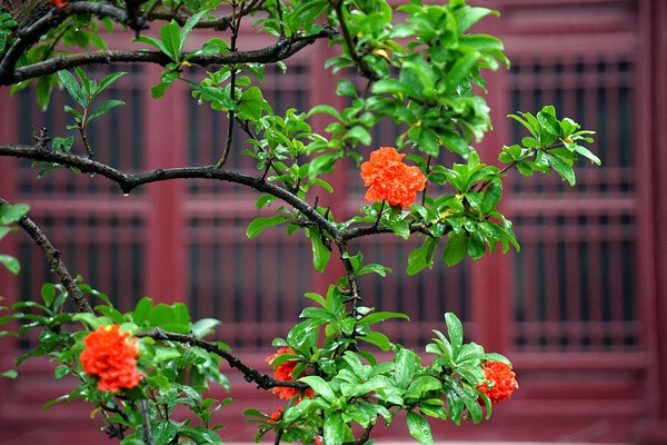
<path id="1" fill-rule="evenodd" d="M 99 3 L 96 3 L 99 4 Z M 229 52 L 225 55 L 213 55 L 213 56 L 192 56 L 188 61 L 192 65 L 198 65 L 201 67 L 207 67 L 211 65 L 232 65 L 232 63 L 249 63 L 249 62 L 260 62 L 260 63 L 275 63 L 280 60 L 285 60 L 296 52 L 302 50 L 307 46 L 313 43 L 316 40 L 321 38 L 332 38 L 336 36 L 336 30 L 332 28 L 327 28 L 322 30 L 320 33 L 303 38 L 298 38 L 295 40 L 281 38 L 275 44 L 270 47 L 248 50 L 248 51 L 239 51 L 239 52 Z M 16 44 L 14 44 L 16 46 Z M 13 47 L 12 47 L 13 48 Z M 8 53 L 9 56 L 9 53 Z M 6 57 L 7 60 L 7 57 Z M 27 67 L 18 68 L 13 75 L 7 73 L 3 71 L 3 66 L 6 65 L 6 60 L 0 65 L 0 85 L 12 85 L 27 79 L 37 78 L 44 75 L 54 73 L 60 71 L 61 69 L 70 69 L 73 67 L 81 67 L 87 65 L 98 65 L 98 63 L 115 63 L 115 62 L 126 62 L 126 63 L 158 63 L 161 66 L 166 66 L 172 60 L 160 51 L 92 51 L 84 52 L 79 55 L 71 56 L 59 56 L 52 59 L 46 60 L 43 62 L 38 62 L 33 65 L 29 65 Z M 16 61 L 14 61 L 16 62 Z M 11 65 L 13 68 L 13 65 Z M 10 68 L 10 69 L 11 69 Z"/>

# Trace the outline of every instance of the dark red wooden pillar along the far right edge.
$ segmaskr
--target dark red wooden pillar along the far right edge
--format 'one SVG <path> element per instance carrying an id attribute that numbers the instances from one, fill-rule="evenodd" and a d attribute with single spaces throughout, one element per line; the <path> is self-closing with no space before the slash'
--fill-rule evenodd
<path id="1" fill-rule="evenodd" d="M 638 291 L 640 296 L 645 348 L 650 354 L 648 382 L 646 385 L 649 419 L 644 425 L 641 443 L 667 443 L 667 400 L 656 390 L 664 385 L 667 368 L 667 3 L 663 0 L 639 2 L 640 78 L 636 101 L 641 139 L 636 146 L 640 176 L 638 196 L 645 197 L 639 207 L 640 231 L 638 243 L 644 255 L 638 258 Z M 648 178 L 648 179 L 646 179 Z"/>

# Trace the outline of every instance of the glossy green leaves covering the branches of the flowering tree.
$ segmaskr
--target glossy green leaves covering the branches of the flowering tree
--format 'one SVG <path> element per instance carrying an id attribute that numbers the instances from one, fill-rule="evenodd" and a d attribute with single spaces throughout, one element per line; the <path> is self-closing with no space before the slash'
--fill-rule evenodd
<path id="1" fill-rule="evenodd" d="M 509 365 L 507 358 L 466 343 L 460 320 L 450 313 L 445 314 L 447 332 L 434 330 L 425 356 L 395 343 L 382 332 L 382 324 L 408 323 L 408 317 L 364 306 L 358 283 L 362 275 L 385 277 L 391 270 L 381 264 L 366 264 L 355 240 L 387 233 L 406 240 L 421 238 L 406 258 L 409 275 L 441 264 L 455 266 L 468 257 L 476 260 L 496 249 L 519 250 L 511 221 L 498 209 L 507 171 L 515 167 L 525 176 L 556 171 L 575 185 L 574 166 L 579 156 L 600 164 L 586 147 L 593 142 L 593 131 L 580 129 L 569 118 L 559 119 L 551 106 L 535 116 L 520 111 L 509 115 L 528 136 L 520 144 L 502 147 L 498 159 L 504 167 L 481 160 L 472 145 L 491 129 L 489 109 L 481 96 L 486 92 L 481 73 L 485 69 L 508 67 L 509 61 L 500 40 L 475 33 L 472 27 L 497 12 L 468 6 L 465 0 L 445 4 L 411 0 L 399 6 L 386 0 L 231 3 L 165 0 L 127 6 L 138 8 L 132 14 L 137 22 L 118 24 L 132 27 L 137 32 L 135 41 L 159 51 L 139 50 L 131 56 L 152 61 L 157 58 L 165 68 L 150 90 L 151 96 L 159 99 L 171 85 L 183 82 L 197 103 L 206 103 L 227 119 L 229 141 L 233 140 L 235 131 L 247 137 L 235 156 L 248 157 L 257 168 L 251 175 L 227 170 L 225 162 L 232 145 L 221 142 L 225 152 L 221 159 L 209 159 L 206 166 L 182 170 L 197 171 L 192 177 L 213 178 L 216 167 L 226 180 L 263 194 L 256 201 L 258 215 L 247 227 L 248 238 L 282 226 L 288 235 L 308 239 L 317 271 L 322 273 L 336 260 L 345 269 L 345 275 L 329 286 L 326 295 L 307 293 L 305 297 L 311 306 L 303 308 L 285 338 L 273 340 L 275 347 L 287 349 L 271 365 L 276 369 L 281 366 L 290 369 L 289 385 L 298 387 L 299 395 L 286 403 L 283 412 L 273 415 L 246 411 L 248 421 L 258 425 L 256 441 L 271 433 L 276 435 L 275 443 L 311 444 L 320 438 L 327 445 L 359 442 L 359 428 L 368 436 L 376 425 L 389 425 L 397 414 L 405 412 L 407 432 L 417 442 L 430 445 L 431 422 L 450 421 L 459 425 L 462 421 L 479 423 L 488 418 L 491 402 L 478 389 L 487 384 L 482 364 L 492 360 Z M 122 17 L 129 12 L 113 9 L 113 4 L 104 8 L 122 12 Z M 89 123 L 123 105 L 116 99 L 97 103 L 102 91 L 123 72 L 98 83 L 79 68 L 84 58 L 67 62 L 81 51 L 86 57 L 99 56 L 86 53 L 89 47 L 106 48 L 100 24 L 113 32 L 112 18 L 118 20 L 118 17 L 103 11 L 99 16 L 109 17 L 96 19 L 87 13 L 63 11 L 51 28 L 44 27 L 39 41 L 22 51 L 17 66 L 9 70 L 30 72 L 36 67 L 42 70 L 34 88 L 43 109 L 54 86 L 66 90 L 73 106 L 66 106 L 64 111 L 74 120 L 67 129 L 78 131 L 88 158 L 94 155 L 86 137 Z M 243 46 L 237 40 L 241 21 L 255 16 L 258 32 L 275 37 L 276 43 L 263 50 L 240 50 Z M 141 34 L 140 22 L 145 19 L 162 22 L 159 28 L 153 23 L 159 33 Z M 11 16 L 0 13 L 0 61 L 17 43 L 16 27 Z M 192 39 L 198 28 L 221 33 Z M 329 38 L 334 47 L 335 56 L 326 61 L 325 68 L 338 75 L 336 95 L 344 98 L 344 105 L 337 108 L 319 103 L 308 111 L 296 108 L 283 113 L 276 111 L 263 93 L 267 65 L 277 62 L 287 73 L 287 65 L 279 60 L 320 38 Z M 193 41 L 197 47 L 186 51 Z M 70 47 L 76 47 L 73 55 Z M 199 71 L 189 72 L 192 65 L 208 67 L 209 71 L 201 76 Z M 76 68 L 71 73 L 56 68 L 49 71 L 50 66 Z M 352 71 L 361 78 L 352 77 Z M 29 83 L 30 80 L 17 82 L 12 91 Z M 323 135 L 312 131 L 316 118 L 327 119 Z M 335 191 L 328 175 L 337 164 L 347 161 L 345 158 L 359 167 L 365 160 L 362 148 L 374 146 L 378 123 L 388 120 L 401 128 L 395 145 L 424 175 L 426 188 L 408 208 L 378 201 L 361 205 L 359 212 L 348 219 L 337 219 L 339 215 L 335 217 L 330 208 L 318 205 L 322 190 Z M 81 156 L 76 154 L 74 136 L 56 137 L 50 147 L 43 138 L 38 140 L 38 147 L 63 159 L 79 160 Z M 457 161 L 442 164 L 444 150 L 454 154 Z M 33 162 L 41 167 L 39 178 L 63 167 L 80 172 L 77 165 L 81 164 Z M 108 176 L 101 168 L 92 171 Z M 147 178 L 153 172 L 141 175 Z M 271 206 L 275 206 L 272 214 L 268 212 Z M 12 224 L 27 211 L 26 205 L 0 206 L 0 239 L 13 230 Z M 436 263 L 437 257 L 442 260 Z M 0 263 L 19 273 L 14 258 L 0 255 Z M 248 368 L 231 355 L 225 343 L 205 340 L 215 334 L 213 328 L 220 322 L 192 320 L 183 304 L 156 304 L 143 297 L 132 310 L 121 313 L 107 295 L 82 283 L 80 277 L 77 286 L 94 301 L 92 313 L 70 312 L 66 288 L 46 283 L 39 296 L 10 308 L 0 307 L 7 314 L 0 317 L 0 325 L 8 326 L 0 337 L 38 338 L 31 350 L 18 357 L 16 366 L 32 357 L 47 357 L 53 363 L 56 380 L 72 377 L 68 380 L 70 390 L 46 406 L 87 400 L 96 406 L 93 415 L 102 413 L 109 432 L 120 432 L 110 435 L 119 436 L 123 444 L 141 444 L 147 436 L 152 436 L 156 444 L 221 443 L 218 431 L 222 425 L 215 415 L 231 399 L 206 398 L 202 394 L 211 384 L 228 389 L 229 382 L 220 373 L 222 360 L 241 369 L 248 382 L 265 389 L 286 384 Z M 79 359 L 89 332 L 110 325 L 119 325 L 138 338 L 138 367 L 142 374 L 137 387 L 116 394 L 100 390 L 97 377 L 88 376 Z M 9 369 L 0 376 L 16 378 L 18 372 Z M 72 389 L 69 382 L 77 382 L 78 386 Z M 145 431 L 148 427 L 150 432 Z"/>

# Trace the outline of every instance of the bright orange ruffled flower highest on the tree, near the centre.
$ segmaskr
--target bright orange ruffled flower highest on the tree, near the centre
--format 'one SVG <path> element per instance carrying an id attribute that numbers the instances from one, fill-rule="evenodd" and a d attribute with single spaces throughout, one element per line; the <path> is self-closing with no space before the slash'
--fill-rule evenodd
<path id="1" fill-rule="evenodd" d="M 386 199 L 392 206 L 410 207 L 417 191 L 426 187 L 426 177 L 419 167 L 405 165 L 401 161 L 405 156 L 394 147 L 380 147 L 370 154 L 370 159 L 361 164 L 364 185 L 370 187 L 365 200 L 380 202 Z"/>

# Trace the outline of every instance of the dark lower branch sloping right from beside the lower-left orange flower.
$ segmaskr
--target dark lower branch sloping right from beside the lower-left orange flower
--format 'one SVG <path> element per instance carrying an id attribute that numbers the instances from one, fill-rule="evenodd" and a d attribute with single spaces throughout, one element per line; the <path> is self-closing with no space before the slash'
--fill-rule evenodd
<path id="1" fill-rule="evenodd" d="M 271 389 L 277 386 L 287 386 L 290 388 L 306 390 L 310 387 L 310 386 L 306 385 L 305 383 L 300 383 L 300 382 L 276 380 L 276 379 L 269 377 L 268 375 L 261 374 L 259 370 L 251 368 L 248 365 L 243 364 L 239 358 L 229 354 L 227 350 L 219 347 L 216 343 L 203 340 L 201 338 L 197 338 L 193 335 L 168 333 L 166 330 L 160 329 L 159 327 L 156 327 L 150 330 L 140 330 L 137 334 L 135 334 L 135 337 L 150 337 L 156 340 L 177 342 L 177 343 L 180 343 L 183 345 L 191 345 L 191 346 L 200 347 L 203 350 L 216 354 L 220 358 L 223 358 L 225 360 L 227 360 L 229 366 L 231 366 L 232 368 L 239 369 L 243 374 L 247 382 L 255 382 L 257 384 L 257 386 L 262 389 Z"/>

